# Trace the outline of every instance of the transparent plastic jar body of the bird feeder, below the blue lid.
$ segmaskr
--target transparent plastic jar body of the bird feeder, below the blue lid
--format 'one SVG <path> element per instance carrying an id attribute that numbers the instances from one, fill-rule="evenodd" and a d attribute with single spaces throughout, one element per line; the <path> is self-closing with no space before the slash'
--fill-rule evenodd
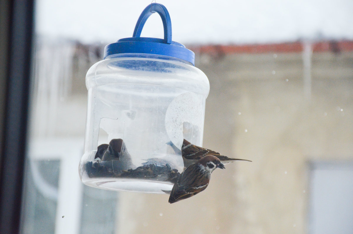
<path id="1" fill-rule="evenodd" d="M 82 182 L 116 191 L 171 190 L 184 170 L 183 139 L 202 145 L 206 75 L 170 57 L 120 54 L 94 64 L 86 87 Z"/>

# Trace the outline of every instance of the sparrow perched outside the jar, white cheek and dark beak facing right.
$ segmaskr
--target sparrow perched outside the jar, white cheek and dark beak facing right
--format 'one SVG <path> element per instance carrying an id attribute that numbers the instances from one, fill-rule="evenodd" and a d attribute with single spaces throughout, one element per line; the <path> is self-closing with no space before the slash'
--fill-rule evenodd
<path id="1" fill-rule="evenodd" d="M 211 173 L 216 168 L 225 169 L 225 166 L 213 155 L 206 155 L 188 166 L 174 184 L 168 202 L 174 203 L 204 191 L 210 182 Z"/>

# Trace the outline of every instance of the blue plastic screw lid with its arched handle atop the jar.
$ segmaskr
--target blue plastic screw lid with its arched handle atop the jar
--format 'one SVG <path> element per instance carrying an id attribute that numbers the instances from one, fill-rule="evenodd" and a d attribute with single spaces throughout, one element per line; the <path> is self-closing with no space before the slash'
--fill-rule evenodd
<path id="1" fill-rule="evenodd" d="M 157 12 L 163 22 L 164 39 L 140 37 L 142 28 L 151 14 Z M 172 23 L 165 6 L 159 3 L 148 5 L 136 23 L 132 37 L 122 38 L 104 48 L 104 59 L 121 53 L 155 54 L 185 60 L 195 66 L 195 53 L 181 43 L 172 41 Z"/>

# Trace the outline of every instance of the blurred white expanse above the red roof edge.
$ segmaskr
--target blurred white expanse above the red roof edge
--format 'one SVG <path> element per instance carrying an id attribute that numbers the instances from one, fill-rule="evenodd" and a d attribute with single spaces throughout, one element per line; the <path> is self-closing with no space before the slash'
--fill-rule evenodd
<path id="1" fill-rule="evenodd" d="M 353 40 L 353 0 L 163 0 L 173 41 L 183 44 Z M 40 35 L 112 43 L 131 37 L 149 0 L 37 0 Z M 163 37 L 157 13 L 141 36 Z"/>

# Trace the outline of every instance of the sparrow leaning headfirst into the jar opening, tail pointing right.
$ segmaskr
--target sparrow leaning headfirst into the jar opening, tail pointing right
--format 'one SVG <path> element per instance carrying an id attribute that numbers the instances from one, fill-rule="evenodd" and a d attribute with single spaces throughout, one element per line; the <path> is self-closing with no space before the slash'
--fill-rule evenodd
<path id="1" fill-rule="evenodd" d="M 167 142 L 167 144 L 172 146 L 175 153 L 180 152 L 180 150 L 171 141 Z M 215 152 L 213 150 L 208 150 L 206 148 L 202 148 L 202 147 L 193 145 L 189 141 L 184 139 L 183 146 L 181 146 L 181 156 L 183 156 L 183 161 L 184 161 L 185 167 L 188 167 L 191 164 L 196 163 L 197 160 L 201 159 L 202 157 L 204 157 L 206 155 L 213 155 L 213 156 L 219 158 L 221 160 L 221 162 L 224 164 L 232 163 L 237 160 L 251 162 L 250 160 L 247 160 L 247 159 L 228 158 L 227 156 L 223 156 L 220 153 Z"/>

